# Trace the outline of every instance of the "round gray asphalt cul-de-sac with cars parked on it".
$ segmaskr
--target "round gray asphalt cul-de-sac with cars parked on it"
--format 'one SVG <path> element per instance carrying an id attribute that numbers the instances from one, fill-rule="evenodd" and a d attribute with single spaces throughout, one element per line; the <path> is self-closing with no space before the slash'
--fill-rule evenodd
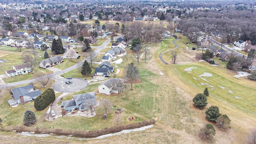
<path id="1" fill-rule="evenodd" d="M 52 85 L 52 88 L 57 92 L 77 92 L 79 90 L 82 90 L 88 86 L 88 83 L 86 80 L 82 78 L 72 78 L 72 79 L 66 79 L 66 78 L 55 78 L 55 83 Z M 71 80 L 72 84 L 66 84 Z"/>

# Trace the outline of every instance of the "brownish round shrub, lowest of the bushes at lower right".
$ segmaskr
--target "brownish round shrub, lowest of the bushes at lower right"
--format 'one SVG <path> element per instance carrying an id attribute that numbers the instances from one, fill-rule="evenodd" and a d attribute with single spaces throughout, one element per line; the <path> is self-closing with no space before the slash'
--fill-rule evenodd
<path id="1" fill-rule="evenodd" d="M 206 124 L 203 128 L 200 129 L 199 137 L 202 140 L 213 140 L 213 136 L 215 136 L 216 131 L 212 124 Z"/>

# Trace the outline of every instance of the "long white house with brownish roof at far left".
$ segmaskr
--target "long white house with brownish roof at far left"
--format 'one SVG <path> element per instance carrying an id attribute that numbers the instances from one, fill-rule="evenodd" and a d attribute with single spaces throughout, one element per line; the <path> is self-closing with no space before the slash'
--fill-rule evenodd
<path id="1" fill-rule="evenodd" d="M 20 74 L 27 74 L 29 72 L 32 72 L 32 68 L 29 64 L 20 64 L 17 66 L 12 66 L 12 68 L 13 68 L 13 70 L 5 71 L 5 73 L 8 77 L 17 76 Z"/>

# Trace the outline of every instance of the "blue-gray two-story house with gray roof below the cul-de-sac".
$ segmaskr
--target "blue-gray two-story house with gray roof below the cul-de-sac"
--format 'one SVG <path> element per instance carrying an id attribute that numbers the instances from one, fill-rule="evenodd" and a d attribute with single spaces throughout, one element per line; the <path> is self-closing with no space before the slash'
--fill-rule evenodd
<path id="1" fill-rule="evenodd" d="M 81 112 L 90 109 L 90 105 L 97 104 L 97 97 L 94 92 L 84 94 L 77 94 L 73 96 L 72 100 L 66 100 L 63 103 L 65 111 L 79 109 Z"/>

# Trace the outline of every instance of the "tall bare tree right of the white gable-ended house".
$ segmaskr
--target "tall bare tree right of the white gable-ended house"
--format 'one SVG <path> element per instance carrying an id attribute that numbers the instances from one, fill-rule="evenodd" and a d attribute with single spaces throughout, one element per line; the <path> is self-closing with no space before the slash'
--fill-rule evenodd
<path id="1" fill-rule="evenodd" d="M 128 64 L 128 66 L 125 68 L 125 77 L 127 78 L 127 80 L 130 82 L 131 84 L 131 90 L 132 89 L 132 82 L 135 78 L 138 78 L 140 75 L 139 75 L 139 69 L 137 66 L 134 65 L 134 63 L 130 63 Z"/>

